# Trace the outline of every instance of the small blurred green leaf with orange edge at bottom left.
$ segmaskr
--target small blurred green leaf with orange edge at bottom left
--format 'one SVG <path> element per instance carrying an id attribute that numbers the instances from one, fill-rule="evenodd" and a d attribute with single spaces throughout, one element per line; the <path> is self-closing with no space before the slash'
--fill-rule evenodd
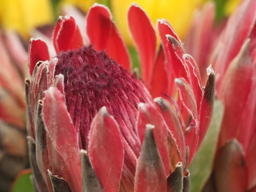
<path id="1" fill-rule="evenodd" d="M 12 192 L 34 192 L 31 176 L 32 174 L 30 169 L 20 172 L 13 183 Z"/>

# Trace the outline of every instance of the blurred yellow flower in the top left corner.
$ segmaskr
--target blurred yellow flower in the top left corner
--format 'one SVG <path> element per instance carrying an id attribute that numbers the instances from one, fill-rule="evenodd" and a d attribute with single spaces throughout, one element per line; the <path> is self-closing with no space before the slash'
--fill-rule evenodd
<path id="1" fill-rule="evenodd" d="M 54 20 L 51 0 L 0 0 L 0 22 L 24 37 L 35 26 Z"/>

